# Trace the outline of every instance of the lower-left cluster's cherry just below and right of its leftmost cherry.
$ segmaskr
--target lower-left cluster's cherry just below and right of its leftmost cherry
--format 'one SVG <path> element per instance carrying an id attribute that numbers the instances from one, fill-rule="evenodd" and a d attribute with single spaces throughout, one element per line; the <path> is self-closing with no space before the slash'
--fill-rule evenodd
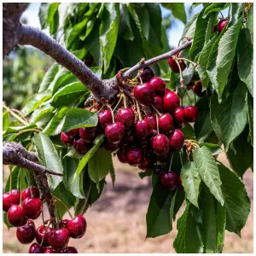
<path id="1" fill-rule="evenodd" d="M 19 205 L 13 205 L 9 207 L 9 211 L 7 212 L 7 219 L 9 224 L 14 227 L 20 227 L 26 224 L 25 214 L 22 207 Z"/>

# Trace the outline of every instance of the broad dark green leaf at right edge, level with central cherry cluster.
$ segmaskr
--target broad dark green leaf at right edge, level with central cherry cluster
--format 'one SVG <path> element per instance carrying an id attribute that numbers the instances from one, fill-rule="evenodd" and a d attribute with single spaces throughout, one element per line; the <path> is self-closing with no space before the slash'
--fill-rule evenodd
<path id="1" fill-rule="evenodd" d="M 236 90 L 221 104 L 218 104 L 216 94 L 212 95 L 212 126 L 220 141 L 224 143 L 226 151 L 247 124 L 246 93 L 246 84 L 240 82 Z"/>

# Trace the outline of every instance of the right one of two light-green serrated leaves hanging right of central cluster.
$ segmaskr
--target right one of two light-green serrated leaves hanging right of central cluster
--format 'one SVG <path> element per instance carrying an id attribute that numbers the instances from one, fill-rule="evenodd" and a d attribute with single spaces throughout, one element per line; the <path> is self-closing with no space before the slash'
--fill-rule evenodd
<path id="1" fill-rule="evenodd" d="M 212 157 L 211 150 L 206 146 L 196 148 L 193 152 L 193 159 L 202 181 L 207 185 L 212 195 L 215 196 L 221 205 L 224 205 L 218 166 Z"/>

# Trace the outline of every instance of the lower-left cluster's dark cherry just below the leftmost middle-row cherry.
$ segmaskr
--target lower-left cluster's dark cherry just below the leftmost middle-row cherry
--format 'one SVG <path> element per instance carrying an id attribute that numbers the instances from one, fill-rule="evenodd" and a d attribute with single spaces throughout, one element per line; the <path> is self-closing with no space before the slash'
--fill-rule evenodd
<path id="1" fill-rule="evenodd" d="M 22 244 L 31 243 L 36 237 L 36 228 L 33 221 L 30 219 L 28 224 L 17 228 L 16 236 Z"/>

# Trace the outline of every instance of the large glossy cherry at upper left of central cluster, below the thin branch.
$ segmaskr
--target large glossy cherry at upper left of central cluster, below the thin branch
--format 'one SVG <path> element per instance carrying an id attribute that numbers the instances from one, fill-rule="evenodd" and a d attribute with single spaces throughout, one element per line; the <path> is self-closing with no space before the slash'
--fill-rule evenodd
<path id="1" fill-rule="evenodd" d="M 143 104 L 149 105 L 153 99 L 154 88 L 148 82 L 137 84 L 134 87 L 133 94 L 138 102 L 143 102 Z"/>

